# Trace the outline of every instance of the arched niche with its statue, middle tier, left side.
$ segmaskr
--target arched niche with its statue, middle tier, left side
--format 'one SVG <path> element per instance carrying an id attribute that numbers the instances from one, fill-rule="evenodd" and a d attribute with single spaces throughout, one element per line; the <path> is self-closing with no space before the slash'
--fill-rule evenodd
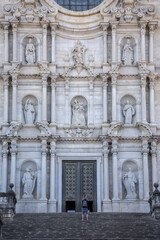
<path id="1" fill-rule="evenodd" d="M 38 100 L 33 95 L 27 95 L 22 100 L 23 123 L 33 125 L 38 119 Z"/>

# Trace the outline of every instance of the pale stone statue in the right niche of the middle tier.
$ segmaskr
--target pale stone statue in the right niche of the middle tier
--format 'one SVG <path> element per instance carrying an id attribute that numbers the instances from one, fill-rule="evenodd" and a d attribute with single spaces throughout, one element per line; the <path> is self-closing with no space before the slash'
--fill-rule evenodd
<path id="1" fill-rule="evenodd" d="M 123 108 L 123 115 L 125 117 L 125 124 L 132 124 L 132 118 L 135 115 L 134 107 L 127 100 L 126 105 Z"/>

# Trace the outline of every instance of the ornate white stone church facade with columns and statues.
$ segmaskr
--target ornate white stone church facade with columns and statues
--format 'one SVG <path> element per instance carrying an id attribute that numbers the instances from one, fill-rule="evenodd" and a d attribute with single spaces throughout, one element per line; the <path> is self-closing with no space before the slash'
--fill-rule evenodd
<path id="1" fill-rule="evenodd" d="M 63 161 L 96 161 L 98 212 L 148 212 L 160 182 L 160 2 L 0 2 L 0 191 L 62 212 Z"/>

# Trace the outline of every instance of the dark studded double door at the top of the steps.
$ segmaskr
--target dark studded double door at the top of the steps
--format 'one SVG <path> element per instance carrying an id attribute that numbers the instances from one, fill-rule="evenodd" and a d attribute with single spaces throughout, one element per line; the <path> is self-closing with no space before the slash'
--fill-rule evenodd
<path id="1" fill-rule="evenodd" d="M 89 200 L 89 210 L 96 212 L 96 161 L 63 161 L 62 166 L 63 212 L 81 212 L 84 196 Z"/>

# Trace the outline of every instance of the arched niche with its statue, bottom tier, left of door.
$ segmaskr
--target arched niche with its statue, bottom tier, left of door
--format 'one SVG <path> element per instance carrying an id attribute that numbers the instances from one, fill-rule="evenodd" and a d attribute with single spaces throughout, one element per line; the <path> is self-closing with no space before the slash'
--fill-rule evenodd
<path id="1" fill-rule="evenodd" d="M 20 196 L 23 199 L 37 198 L 37 165 L 32 160 L 26 160 L 21 166 L 20 176 L 21 192 Z M 28 181 L 28 182 L 27 182 Z M 25 188 L 29 188 L 28 194 L 25 193 Z"/>

